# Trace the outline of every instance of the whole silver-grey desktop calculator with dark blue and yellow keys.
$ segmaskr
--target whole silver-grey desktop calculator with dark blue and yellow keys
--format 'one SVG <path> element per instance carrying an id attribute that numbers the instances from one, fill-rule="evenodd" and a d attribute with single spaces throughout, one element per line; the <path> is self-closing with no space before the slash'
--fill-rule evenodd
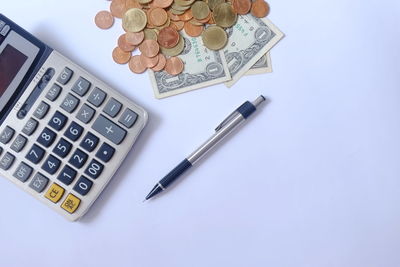
<path id="1" fill-rule="evenodd" d="M 0 175 L 70 221 L 147 123 L 127 97 L 0 14 Z"/>

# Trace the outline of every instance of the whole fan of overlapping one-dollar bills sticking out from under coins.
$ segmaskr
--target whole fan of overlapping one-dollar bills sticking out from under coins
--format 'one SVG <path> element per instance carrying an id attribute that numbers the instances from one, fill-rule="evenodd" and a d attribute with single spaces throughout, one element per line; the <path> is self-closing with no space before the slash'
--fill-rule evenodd
<path id="1" fill-rule="evenodd" d="M 150 71 L 155 96 L 164 98 L 222 82 L 231 87 L 243 75 L 272 71 L 269 51 L 284 35 L 269 19 L 241 15 L 226 32 L 228 43 L 220 51 L 209 50 L 201 37 L 182 32 L 185 48 L 179 58 L 184 71 L 177 76 Z"/>

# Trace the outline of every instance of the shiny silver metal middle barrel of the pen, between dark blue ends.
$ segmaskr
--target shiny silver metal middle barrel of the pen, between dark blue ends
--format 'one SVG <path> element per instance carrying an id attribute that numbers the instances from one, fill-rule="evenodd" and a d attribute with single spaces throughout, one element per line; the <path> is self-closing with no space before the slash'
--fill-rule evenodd
<path id="1" fill-rule="evenodd" d="M 224 127 L 216 131 L 205 143 L 203 143 L 189 157 L 188 161 L 193 165 L 199 161 L 208 151 L 219 143 L 225 136 L 229 135 L 234 129 L 244 122 L 245 118 L 237 113 L 232 119 L 227 122 Z"/>

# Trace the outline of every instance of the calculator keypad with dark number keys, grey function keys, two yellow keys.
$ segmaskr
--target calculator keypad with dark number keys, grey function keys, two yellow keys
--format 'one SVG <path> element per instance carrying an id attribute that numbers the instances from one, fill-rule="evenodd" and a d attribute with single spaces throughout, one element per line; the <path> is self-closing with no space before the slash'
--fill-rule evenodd
<path id="1" fill-rule="evenodd" d="M 0 147 L 0 169 L 12 168 L 13 179 L 25 183 L 27 190 L 73 214 L 104 188 L 110 179 L 106 164 L 119 148 L 126 151 L 125 143 L 131 145 L 131 140 L 123 141 L 139 115 L 112 90 L 106 93 L 72 68 L 60 70 L 30 118 L 21 121 L 23 127 L 3 127 L 0 143 L 9 149 L 3 152 Z M 23 153 L 25 159 L 14 152 Z M 117 161 L 111 164 L 118 166 Z"/>

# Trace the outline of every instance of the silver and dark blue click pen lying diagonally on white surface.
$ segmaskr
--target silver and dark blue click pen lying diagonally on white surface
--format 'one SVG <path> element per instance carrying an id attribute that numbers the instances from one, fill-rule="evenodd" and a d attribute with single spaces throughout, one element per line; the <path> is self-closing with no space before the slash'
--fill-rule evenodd
<path id="1" fill-rule="evenodd" d="M 265 97 L 260 95 L 253 102 L 244 102 L 240 107 L 229 114 L 229 116 L 217 126 L 215 133 L 204 144 L 196 149 L 189 157 L 185 158 L 181 163 L 179 163 L 178 166 L 170 171 L 153 187 L 150 193 L 146 196 L 145 200 L 148 200 L 167 189 L 168 186 L 170 186 L 181 174 L 198 162 L 200 158 L 203 157 L 219 141 L 224 139 L 225 136 L 230 134 L 234 129 L 242 124 L 265 100 Z"/>

